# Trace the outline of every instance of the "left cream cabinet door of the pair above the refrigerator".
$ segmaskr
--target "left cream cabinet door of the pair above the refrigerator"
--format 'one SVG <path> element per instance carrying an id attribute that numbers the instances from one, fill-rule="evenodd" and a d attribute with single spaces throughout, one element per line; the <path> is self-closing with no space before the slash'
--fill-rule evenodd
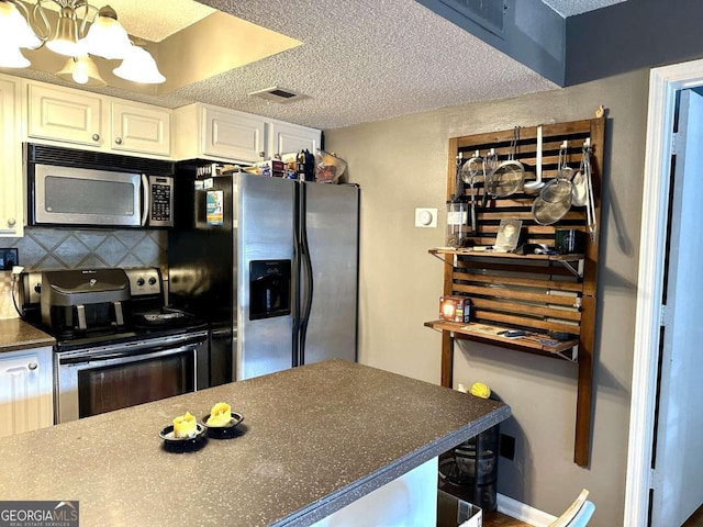
<path id="1" fill-rule="evenodd" d="M 264 119 L 213 108 L 202 109 L 202 152 L 209 156 L 255 162 L 264 153 Z"/>

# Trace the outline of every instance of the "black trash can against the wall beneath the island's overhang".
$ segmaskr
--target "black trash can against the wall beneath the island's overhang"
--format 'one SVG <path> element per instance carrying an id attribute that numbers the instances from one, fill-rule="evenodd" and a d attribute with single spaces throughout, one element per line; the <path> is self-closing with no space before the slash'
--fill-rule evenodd
<path id="1" fill-rule="evenodd" d="M 498 508 L 500 425 L 439 456 L 439 489 L 483 511 Z"/>

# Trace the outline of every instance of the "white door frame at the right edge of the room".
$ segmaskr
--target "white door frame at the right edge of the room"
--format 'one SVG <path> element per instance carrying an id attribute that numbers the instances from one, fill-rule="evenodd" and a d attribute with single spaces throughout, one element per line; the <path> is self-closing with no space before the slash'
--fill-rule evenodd
<path id="1" fill-rule="evenodd" d="M 623 525 L 647 525 L 676 98 L 679 90 L 699 86 L 703 86 L 703 60 L 654 68 L 649 74 Z"/>

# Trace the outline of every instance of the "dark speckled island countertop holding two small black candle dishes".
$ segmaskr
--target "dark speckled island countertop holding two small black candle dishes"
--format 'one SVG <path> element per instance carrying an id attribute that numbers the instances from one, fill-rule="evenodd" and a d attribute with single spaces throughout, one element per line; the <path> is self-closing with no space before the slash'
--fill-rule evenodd
<path id="1" fill-rule="evenodd" d="M 244 415 L 241 436 L 163 448 L 175 416 L 220 401 Z M 0 496 L 77 500 L 81 527 L 306 526 L 509 416 L 331 360 L 2 438 Z"/>

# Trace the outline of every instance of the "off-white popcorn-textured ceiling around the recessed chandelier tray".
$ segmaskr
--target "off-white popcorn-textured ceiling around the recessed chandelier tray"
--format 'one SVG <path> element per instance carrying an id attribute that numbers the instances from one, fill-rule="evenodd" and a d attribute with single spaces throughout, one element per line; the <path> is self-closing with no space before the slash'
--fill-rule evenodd
<path id="1" fill-rule="evenodd" d="M 621 0 L 543 1 L 569 15 Z M 167 94 L 93 90 L 167 108 L 204 102 L 325 130 L 557 88 L 414 0 L 112 0 L 110 4 L 131 34 L 152 42 L 207 16 L 211 8 L 303 42 Z M 225 38 L 216 45 L 224 48 L 231 42 Z M 31 70 L 18 75 L 58 82 Z M 281 104 L 247 96 L 274 86 L 309 98 Z"/>

